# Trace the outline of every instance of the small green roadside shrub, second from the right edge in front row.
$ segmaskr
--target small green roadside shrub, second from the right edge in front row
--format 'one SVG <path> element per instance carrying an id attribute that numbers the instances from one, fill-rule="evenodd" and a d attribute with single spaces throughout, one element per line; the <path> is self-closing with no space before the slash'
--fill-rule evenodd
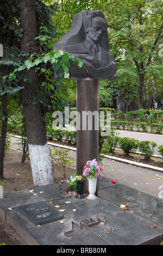
<path id="1" fill-rule="evenodd" d="M 156 145 L 157 144 L 155 142 L 151 142 L 151 141 L 139 142 L 138 148 L 140 152 L 144 155 L 145 160 L 148 160 L 152 157 Z"/>

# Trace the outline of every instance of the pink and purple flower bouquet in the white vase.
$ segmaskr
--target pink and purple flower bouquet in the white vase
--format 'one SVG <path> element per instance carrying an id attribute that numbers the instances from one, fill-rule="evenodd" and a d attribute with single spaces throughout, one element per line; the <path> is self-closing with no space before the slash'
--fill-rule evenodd
<path id="1" fill-rule="evenodd" d="M 87 180 L 89 180 L 90 176 L 91 179 L 95 178 L 102 178 L 103 168 L 98 167 L 98 162 L 96 159 L 93 159 L 92 161 L 87 161 L 84 169 L 83 169 L 83 175 L 86 176 Z"/>

